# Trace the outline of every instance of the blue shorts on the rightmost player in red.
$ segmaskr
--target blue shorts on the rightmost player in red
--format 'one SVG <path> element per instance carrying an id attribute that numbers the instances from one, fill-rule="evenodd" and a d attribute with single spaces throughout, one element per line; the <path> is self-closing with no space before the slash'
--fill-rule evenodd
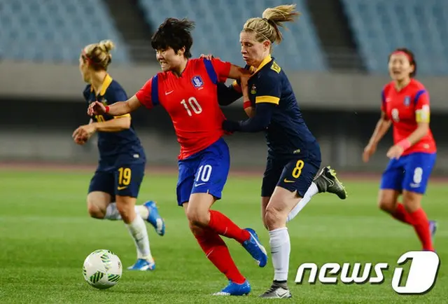
<path id="1" fill-rule="evenodd" d="M 389 161 L 381 177 L 381 189 L 425 193 L 436 153 L 412 153 Z"/>

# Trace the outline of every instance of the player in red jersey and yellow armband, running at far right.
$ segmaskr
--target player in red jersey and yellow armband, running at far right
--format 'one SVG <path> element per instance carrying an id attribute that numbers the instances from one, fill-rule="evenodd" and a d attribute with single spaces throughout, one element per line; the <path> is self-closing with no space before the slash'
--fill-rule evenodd
<path id="1" fill-rule="evenodd" d="M 381 118 L 364 149 L 363 160 L 367 163 L 393 125 L 394 145 L 387 152 L 391 160 L 381 179 L 379 208 L 398 221 L 414 226 L 423 250 L 433 251 L 436 223 L 428 221 L 421 208 L 421 198 L 435 164 L 436 147 L 429 128 L 429 94 L 414 79 L 416 68 L 414 54 L 407 48 L 398 48 L 389 55 L 392 81 L 381 93 Z M 398 202 L 399 195 L 402 203 Z"/>

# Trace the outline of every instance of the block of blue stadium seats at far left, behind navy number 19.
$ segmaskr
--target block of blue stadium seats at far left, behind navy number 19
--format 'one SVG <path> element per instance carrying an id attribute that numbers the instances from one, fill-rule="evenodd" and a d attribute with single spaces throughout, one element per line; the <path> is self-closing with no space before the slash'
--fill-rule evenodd
<path id="1" fill-rule="evenodd" d="M 130 62 L 102 0 L 0 0 L 0 53 L 13 60 L 78 62 L 81 48 L 111 39 Z"/>

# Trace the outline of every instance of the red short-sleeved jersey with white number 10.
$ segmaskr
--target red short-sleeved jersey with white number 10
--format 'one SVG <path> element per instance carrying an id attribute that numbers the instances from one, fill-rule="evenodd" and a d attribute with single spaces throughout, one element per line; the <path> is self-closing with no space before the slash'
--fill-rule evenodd
<path id="1" fill-rule="evenodd" d="M 137 92 L 148 109 L 160 104 L 169 113 L 181 144 L 179 159 L 204 150 L 225 134 L 216 85 L 227 80 L 230 66 L 217 59 L 190 59 L 180 77 L 160 72 Z"/>

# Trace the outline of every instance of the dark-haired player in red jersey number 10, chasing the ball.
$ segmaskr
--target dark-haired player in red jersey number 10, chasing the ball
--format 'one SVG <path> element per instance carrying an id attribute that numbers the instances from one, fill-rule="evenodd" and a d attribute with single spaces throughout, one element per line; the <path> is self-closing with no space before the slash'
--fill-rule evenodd
<path id="1" fill-rule="evenodd" d="M 207 258 L 230 281 L 216 295 L 239 296 L 249 293 L 251 286 L 232 261 L 220 235 L 237 240 L 260 267 L 266 265 L 267 254 L 255 231 L 239 228 L 210 207 L 221 198 L 230 168 L 228 146 L 222 139 L 225 118 L 218 104 L 216 85 L 227 78 L 241 79 L 249 73 L 221 60 L 190 59 L 191 29 L 193 22 L 188 20 L 165 20 L 151 41 L 162 72 L 127 101 L 111 106 L 96 102 L 91 104 L 88 113 L 120 116 L 138 109 L 141 104 L 148 109 L 160 104 L 167 110 L 181 144 L 178 204 L 184 207 L 190 230 Z"/>

